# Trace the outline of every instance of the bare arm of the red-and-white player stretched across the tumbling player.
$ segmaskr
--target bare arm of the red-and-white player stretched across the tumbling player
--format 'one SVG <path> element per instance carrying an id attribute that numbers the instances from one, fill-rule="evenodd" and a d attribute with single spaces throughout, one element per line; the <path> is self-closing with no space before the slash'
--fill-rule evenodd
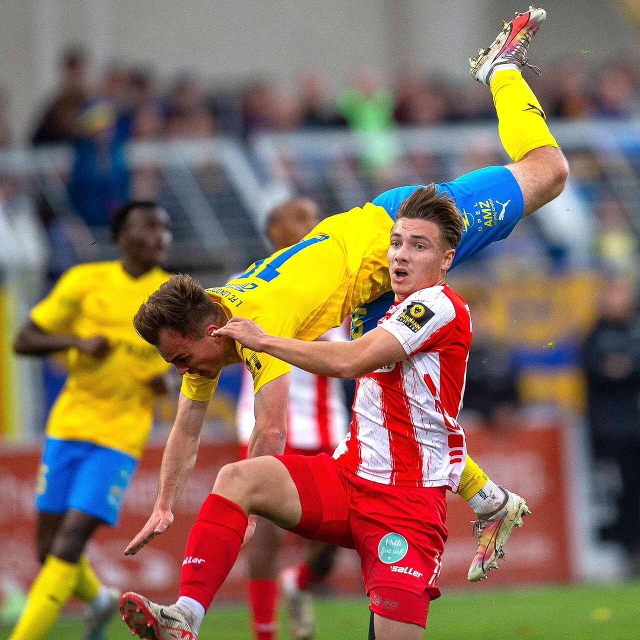
<path id="1" fill-rule="evenodd" d="M 304 342 L 265 333 L 252 320 L 233 317 L 216 334 L 228 335 L 253 351 L 275 356 L 318 376 L 360 378 L 406 358 L 396 337 L 376 328 L 351 342 Z"/>

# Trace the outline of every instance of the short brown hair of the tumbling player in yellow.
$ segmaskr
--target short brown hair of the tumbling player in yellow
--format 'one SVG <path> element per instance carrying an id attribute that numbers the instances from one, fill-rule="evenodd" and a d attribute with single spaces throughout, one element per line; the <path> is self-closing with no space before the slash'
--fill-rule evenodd
<path id="1" fill-rule="evenodd" d="M 171 276 L 142 303 L 133 326 L 141 338 L 157 346 L 163 329 L 183 336 L 204 337 L 208 321 L 221 319 L 224 313 L 191 276 Z"/>

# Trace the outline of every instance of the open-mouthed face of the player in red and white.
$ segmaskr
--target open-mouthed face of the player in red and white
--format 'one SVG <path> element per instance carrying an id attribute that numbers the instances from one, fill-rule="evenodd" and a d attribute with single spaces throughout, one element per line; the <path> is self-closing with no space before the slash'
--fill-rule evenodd
<path id="1" fill-rule="evenodd" d="M 391 230 L 387 258 L 396 301 L 442 284 L 455 255 L 443 246 L 440 227 L 429 220 L 401 218 Z"/>

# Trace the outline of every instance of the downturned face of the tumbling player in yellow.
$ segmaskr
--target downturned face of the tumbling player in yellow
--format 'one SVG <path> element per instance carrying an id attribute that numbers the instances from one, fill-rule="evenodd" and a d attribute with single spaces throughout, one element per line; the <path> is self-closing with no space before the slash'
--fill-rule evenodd
<path id="1" fill-rule="evenodd" d="M 225 354 L 229 341 L 228 338 L 214 338 L 211 333 L 205 333 L 198 340 L 172 329 L 163 329 L 156 349 L 166 362 L 175 366 L 180 376 L 194 373 L 213 380 L 227 364 Z"/>

